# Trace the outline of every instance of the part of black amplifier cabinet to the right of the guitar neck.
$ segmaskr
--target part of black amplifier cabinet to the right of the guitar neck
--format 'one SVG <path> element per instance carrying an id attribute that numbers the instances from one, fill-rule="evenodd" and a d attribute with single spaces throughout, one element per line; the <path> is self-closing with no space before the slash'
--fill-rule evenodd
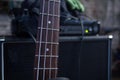
<path id="1" fill-rule="evenodd" d="M 111 80 L 112 36 L 60 37 L 58 76 Z"/>

